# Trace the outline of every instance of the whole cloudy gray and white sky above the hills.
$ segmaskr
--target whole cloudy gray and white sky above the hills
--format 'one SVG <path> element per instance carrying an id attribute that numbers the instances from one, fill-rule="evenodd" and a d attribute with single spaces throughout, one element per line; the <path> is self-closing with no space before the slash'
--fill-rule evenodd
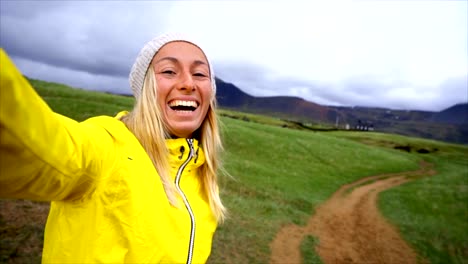
<path id="1" fill-rule="evenodd" d="M 0 46 L 29 77 L 130 93 L 143 45 L 185 32 L 254 96 L 440 111 L 468 102 L 467 3 L 0 0 Z"/>

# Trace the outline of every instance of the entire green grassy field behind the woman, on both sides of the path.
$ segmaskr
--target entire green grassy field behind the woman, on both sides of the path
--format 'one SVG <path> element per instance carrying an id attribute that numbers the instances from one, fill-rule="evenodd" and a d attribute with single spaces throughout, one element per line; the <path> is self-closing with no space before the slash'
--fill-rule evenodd
<path id="1" fill-rule="evenodd" d="M 133 105 L 132 98 L 32 83 L 52 109 L 76 120 L 115 115 Z M 382 212 L 431 263 L 468 263 L 467 146 L 380 133 L 313 132 L 264 116 L 221 114 L 224 165 L 232 176 L 222 178 L 221 194 L 230 215 L 215 234 L 209 263 L 268 263 L 269 244 L 280 227 L 303 225 L 340 186 L 417 169 L 420 160 L 434 163 L 438 174 L 385 192 Z M 320 262 L 316 243 L 313 237 L 303 241 L 305 263 Z"/>

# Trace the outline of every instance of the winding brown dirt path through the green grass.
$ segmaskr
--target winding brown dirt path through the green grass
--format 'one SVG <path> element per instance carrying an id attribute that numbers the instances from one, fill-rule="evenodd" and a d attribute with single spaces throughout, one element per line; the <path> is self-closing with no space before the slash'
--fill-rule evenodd
<path id="1" fill-rule="evenodd" d="M 417 255 L 377 209 L 377 196 L 411 178 L 434 175 L 432 164 L 421 162 L 416 171 L 382 174 L 341 187 L 317 208 L 307 226 L 284 226 L 271 247 L 270 263 L 302 263 L 300 245 L 312 235 L 326 264 L 417 263 Z"/>

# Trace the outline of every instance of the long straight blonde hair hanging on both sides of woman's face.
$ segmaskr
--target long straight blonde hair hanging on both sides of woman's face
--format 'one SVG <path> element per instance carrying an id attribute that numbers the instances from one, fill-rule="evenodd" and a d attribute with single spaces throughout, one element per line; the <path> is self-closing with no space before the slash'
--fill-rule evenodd
<path id="1" fill-rule="evenodd" d="M 161 177 L 167 199 L 171 205 L 178 206 L 177 196 L 179 194 L 171 180 L 169 150 L 165 142 L 170 135 L 163 122 L 162 110 L 159 104 L 155 103 L 157 102 L 156 89 L 155 73 L 150 64 L 144 79 L 142 94 L 137 97 L 133 110 L 124 116 L 122 121 L 133 132 L 151 158 Z M 205 153 L 206 161 L 200 167 L 200 175 L 203 179 L 202 188 L 209 201 L 211 211 L 218 222 L 222 223 L 225 219 L 226 208 L 219 196 L 217 172 L 221 169 L 219 155 L 223 146 L 215 111 L 216 98 L 213 95 L 205 120 L 194 135 L 197 135 L 199 144 Z"/>

